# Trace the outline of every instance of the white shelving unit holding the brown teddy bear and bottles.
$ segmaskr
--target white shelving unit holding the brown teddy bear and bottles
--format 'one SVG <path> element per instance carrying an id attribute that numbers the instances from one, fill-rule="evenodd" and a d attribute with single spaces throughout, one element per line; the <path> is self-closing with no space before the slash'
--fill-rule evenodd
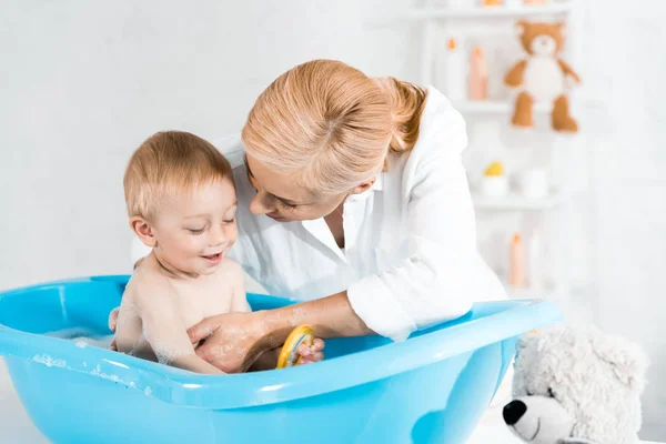
<path id="1" fill-rule="evenodd" d="M 505 2 L 507 2 L 505 0 Z M 514 22 L 521 19 L 531 20 L 544 20 L 544 21 L 565 21 L 566 26 L 566 46 L 564 51 L 564 58 L 574 67 L 578 65 L 582 59 L 579 34 L 577 33 L 579 16 L 577 12 L 576 0 L 549 0 L 547 4 L 543 6 L 497 6 L 497 7 L 481 7 L 481 0 L 470 0 L 467 7 L 461 8 L 448 8 L 442 6 L 443 0 L 423 0 L 421 7 L 412 8 L 402 14 L 402 18 L 412 20 L 421 29 L 421 83 L 424 85 L 432 84 L 440 89 L 442 92 L 447 94 L 447 91 L 442 88 L 442 84 L 437 84 L 437 80 L 441 73 L 435 75 L 435 56 L 446 56 L 445 42 L 448 37 L 455 37 L 456 40 L 461 39 L 463 42 L 466 39 L 471 41 L 481 40 L 483 38 L 490 40 L 491 44 L 503 44 L 504 41 L 501 39 L 495 40 L 495 36 L 514 36 L 515 28 Z M 508 1 L 507 3 L 512 3 Z M 512 22 L 512 20 L 514 22 Z M 517 39 L 517 37 L 516 37 Z M 498 47 L 502 48 L 502 47 Z M 445 63 L 444 63 L 445 64 Z M 496 73 L 495 73 L 496 74 Z M 576 94 L 571 95 L 572 104 Z M 506 127 L 509 124 L 511 115 L 514 110 L 514 100 L 462 100 L 454 101 L 453 105 L 458 110 L 468 122 L 467 131 L 471 133 L 474 131 L 474 124 L 480 122 L 493 122 L 496 125 Z M 545 117 L 549 114 L 552 110 L 552 103 L 536 103 L 534 107 L 535 117 Z M 516 132 L 517 134 L 518 132 Z M 483 134 L 483 133 L 480 133 Z M 551 138 L 545 135 L 545 138 Z M 541 145 L 533 145 L 532 151 L 539 149 L 549 149 L 552 152 L 563 152 L 571 148 L 578 149 L 575 137 L 562 135 L 553 132 L 553 137 L 549 139 L 551 142 L 547 148 Z M 488 142 L 487 138 L 485 142 Z M 487 143 L 486 143 L 487 144 Z M 506 143 L 504 143 L 506 144 Z M 506 147 L 511 150 L 511 147 Z M 478 147 L 477 147 L 478 149 Z M 573 150 L 576 151 L 576 150 Z M 562 155 L 561 155 L 562 158 Z M 565 159 L 566 160 L 566 159 Z M 571 160 L 571 159 L 568 159 Z M 549 162 L 553 162 L 551 157 Z M 543 164 L 541 165 L 544 167 Z M 553 167 L 553 164 L 547 168 Z M 509 169 L 511 170 L 511 169 Z M 568 171 L 568 165 L 558 165 L 557 171 Z M 544 199 L 528 199 L 517 193 L 509 193 L 504 198 L 487 198 L 478 193 L 472 194 L 473 202 L 477 214 L 483 213 L 484 221 L 490 220 L 491 225 L 495 222 L 493 218 L 505 221 L 506 218 L 521 218 L 532 223 L 539 225 L 539 231 L 544 236 L 543 241 L 546 242 L 551 248 L 552 258 L 555 262 L 554 269 L 546 270 L 551 275 L 548 276 L 552 284 L 555 286 L 543 286 L 537 289 L 513 289 L 509 285 L 505 285 L 509 297 L 513 299 L 535 299 L 545 297 L 552 299 L 558 302 L 564 300 L 573 300 L 577 295 L 573 295 L 577 286 L 574 284 L 572 279 L 573 273 L 571 272 L 571 261 L 568 260 L 568 252 L 565 250 L 569 248 L 571 243 L 569 233 L 566 231 L 567 220 L 571 218 L 573 195 L 576 194 L 575 190 L 572 190 L 567 185 L 566 174 L 555 180 L 555 191 Z M 568 213 L 567 213 L 568 212 Z M 506 215 L 506 216 L 505 216 Z M 567 219 L 568 218 L 568 219 Z M 513 220 L 513 219 L 511 219 Z M 547 226 L 545 231 L 542 231 L 543 226 Z M 512 229 L 521 231 L 522 229 L 512 225 Z M 549 230 L 549 231 L 548 231 Z M 487 232 L 486 234 L 493 234 Z M 488 236 L 486 236 L 488 238 Z M 490 236 L 491 239 L 493 236 Z M 497 250 L 494 250 L 497 251 Z M 508 255 L 508 243 L 506 245 L 506 255 Z M 546 284 L 547 285 L 547 284 Z M 566 304 L 566 302 L 564 302 Z M 566 310 L 565 310 L 566 312 Z"/>

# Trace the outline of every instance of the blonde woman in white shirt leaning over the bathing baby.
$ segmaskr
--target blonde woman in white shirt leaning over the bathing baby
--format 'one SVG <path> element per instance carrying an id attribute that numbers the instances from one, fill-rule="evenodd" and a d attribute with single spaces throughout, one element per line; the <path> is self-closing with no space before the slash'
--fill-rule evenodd
<path id="1" fill-rule="evenodd" d="M 206 339 L 198 354 L 241 372 L 300 323 L 323 339 L 403 341 L 504 297 L 476 249 L 466 143 L 463 118 L 433 88 L 332 60 L 278 78 L 242 143 L 218 148 L 238 159 L 232 258 L 271 294 L 303 302 L 209 317 L 190 330 Z"/>

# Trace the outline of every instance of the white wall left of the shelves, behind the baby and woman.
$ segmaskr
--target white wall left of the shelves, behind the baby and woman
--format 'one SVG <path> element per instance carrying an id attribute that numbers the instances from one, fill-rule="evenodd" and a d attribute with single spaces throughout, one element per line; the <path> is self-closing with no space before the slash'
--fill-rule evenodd
<path id="1" fill-rule="evenodd" d="M 376 2 L 3 2 L 0 287 L 129 271 L 125 162 L 152 132 L 240 131 L 256 95 L 313 58 L 400 74 L 405 31 Z M 401 54 L 394 57 L 396 51 Z"/>

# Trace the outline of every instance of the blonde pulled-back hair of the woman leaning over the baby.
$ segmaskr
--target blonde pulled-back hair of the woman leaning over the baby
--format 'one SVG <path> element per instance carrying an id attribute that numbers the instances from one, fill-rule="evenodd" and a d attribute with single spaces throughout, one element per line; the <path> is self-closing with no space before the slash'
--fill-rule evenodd
<path id="1" fill-rule="evenodd" d="M 313 60 L 280 75 L 259 97 L 243 143 L 250 155 L 294 173 L 313 194 L 343 193 L 385 169 L 389 152 L 414 147 L 426 94 L 340 61 Z"/>

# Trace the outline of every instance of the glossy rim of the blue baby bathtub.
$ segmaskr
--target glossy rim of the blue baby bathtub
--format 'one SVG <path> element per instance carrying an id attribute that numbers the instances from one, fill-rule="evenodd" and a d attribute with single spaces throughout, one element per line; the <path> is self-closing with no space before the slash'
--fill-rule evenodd
<path id="1" fill-rule="evenodd" d="M 127 282 L 129 276 L 60 280 L 0 292 L 0 299 L 85 282 Z M 296 301 L 249 293 L 249 297 Z M 100 347 L 10 329 L 0 324 L 0 356 L 33 361 L 125 385 L 163 402 L 231 410 L 283 403 L 395 376 L 562 321 L 556 304 L 543 300 L 481 302 L 496 306 L 487 316 L 434 330 L 405 342 L 300 367 L 230 375 L 200 375 Z M 490 305 L 488 305 L 490 304 Z M 465 316 L 468 316 L 466 314 Z M 463 316 L 463 319 L 465 317 Z M 44 359 L 46 357 L 46 359 Z M 377 365 L 381 363 L 382 365 Z M 11 365 L 8 362 L 8 365 Z"/>

